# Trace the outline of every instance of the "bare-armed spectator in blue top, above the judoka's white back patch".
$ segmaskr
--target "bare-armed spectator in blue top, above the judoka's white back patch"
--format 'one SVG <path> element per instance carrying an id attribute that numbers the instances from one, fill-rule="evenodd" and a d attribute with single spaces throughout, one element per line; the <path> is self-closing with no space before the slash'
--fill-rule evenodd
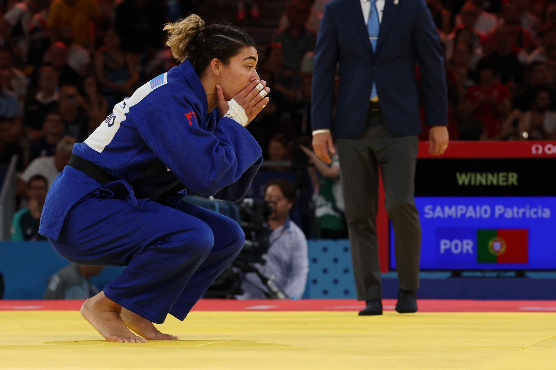
<path id="1" fill-rule="evenodd" d="M 108 29 L 104 45 L 95 54 L 95 72 L 103 86 L 108 106 L 113 107 L 125 97 L 131 97 L 139 79 L 136 55 L 120 48 L 120 37 Z"/>

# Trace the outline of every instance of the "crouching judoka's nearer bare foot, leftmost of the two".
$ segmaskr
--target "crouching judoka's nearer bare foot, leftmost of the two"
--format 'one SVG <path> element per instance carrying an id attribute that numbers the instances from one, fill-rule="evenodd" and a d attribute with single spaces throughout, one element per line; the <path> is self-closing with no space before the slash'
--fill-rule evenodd
<path id="1" fill-rule="evenodd" d="M 122 306 L 108 299 L 104 292 L 89 298 L 81 306 L 85 318 L 108 342 L 142 343 L 146 339 L 133 334 L 120 317 Z"/>

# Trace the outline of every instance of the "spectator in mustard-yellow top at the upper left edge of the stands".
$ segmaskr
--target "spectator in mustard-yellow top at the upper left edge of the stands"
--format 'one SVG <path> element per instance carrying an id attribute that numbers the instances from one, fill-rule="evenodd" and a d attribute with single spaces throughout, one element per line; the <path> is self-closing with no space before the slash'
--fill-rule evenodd
<path id="1" fill-rule="evenodd" d="M 93 42 L 93 22 L 98 15 L 98 6 L 94 0 L 53 0 L 48 11 L 48 27 L 59 33 L 64 24 L 70 23 L 75 42 L 87 48 Z"/>

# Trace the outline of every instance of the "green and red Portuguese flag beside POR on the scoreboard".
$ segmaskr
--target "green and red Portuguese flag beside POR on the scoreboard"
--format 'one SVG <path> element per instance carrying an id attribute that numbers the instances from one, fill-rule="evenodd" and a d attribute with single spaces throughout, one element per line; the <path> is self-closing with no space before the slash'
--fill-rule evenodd
<path id="1" fill-rule="evenodd" d="M 527 263 L 528 230 L 477 230 L 477 262 Z"/>

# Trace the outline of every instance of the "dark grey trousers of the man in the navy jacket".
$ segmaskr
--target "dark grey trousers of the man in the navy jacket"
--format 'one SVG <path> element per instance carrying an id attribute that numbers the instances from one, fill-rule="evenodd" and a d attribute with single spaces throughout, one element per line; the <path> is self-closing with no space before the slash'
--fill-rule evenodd
<path id="1" fill-rule="evenodd" d="M 414 199 L 418 137 L 395 136 L 379 114 L 369 117 L 369 128 L 359 138 L 337 139 L 336 145 L 358 300 L 382 297 L 376 235 L 379 166 L 386 211 L 394 228 L 399 285 L 416 290 L 421 253 L 421 225 Z"/>

